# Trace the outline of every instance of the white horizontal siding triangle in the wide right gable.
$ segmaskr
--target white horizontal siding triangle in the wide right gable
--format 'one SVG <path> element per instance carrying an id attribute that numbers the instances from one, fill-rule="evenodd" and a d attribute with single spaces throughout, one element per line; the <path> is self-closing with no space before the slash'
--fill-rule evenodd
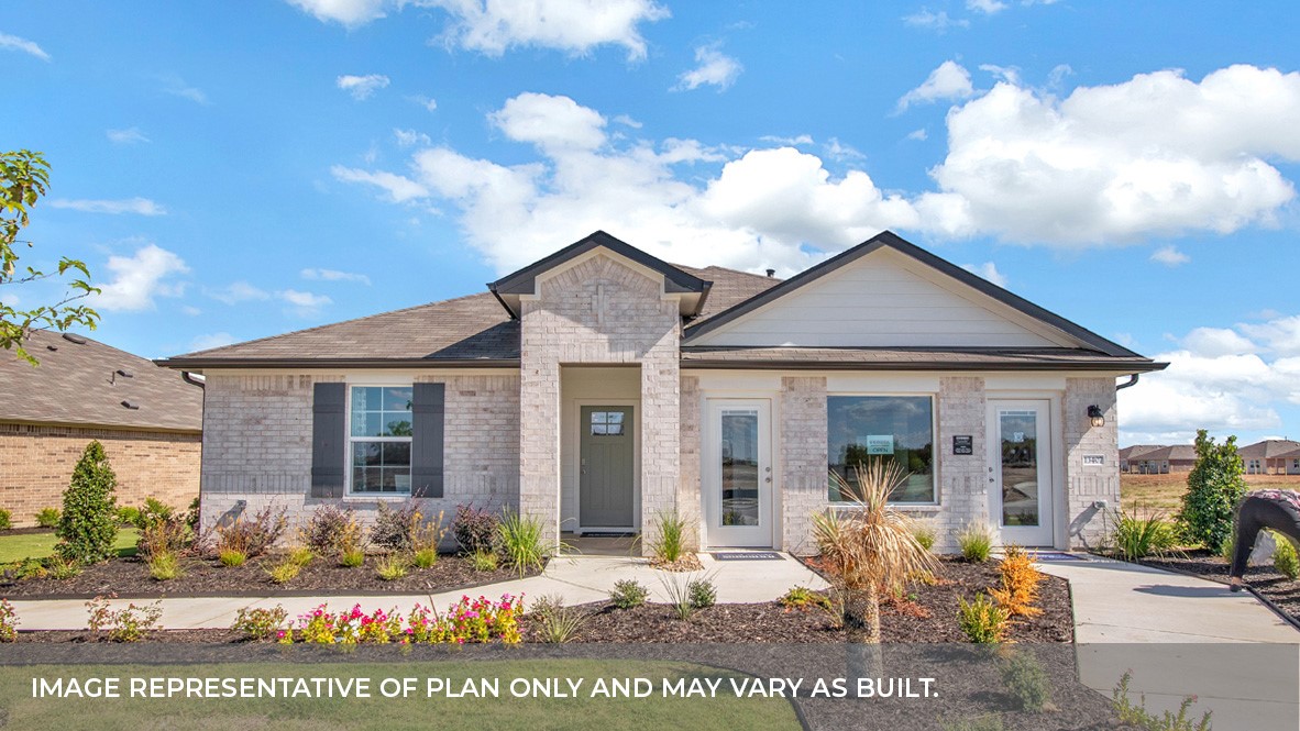
<path id="1" fill-rule="evenodd" d="M 881 249 L 692 345 L 1076 347 L 979 291 Z"/>

